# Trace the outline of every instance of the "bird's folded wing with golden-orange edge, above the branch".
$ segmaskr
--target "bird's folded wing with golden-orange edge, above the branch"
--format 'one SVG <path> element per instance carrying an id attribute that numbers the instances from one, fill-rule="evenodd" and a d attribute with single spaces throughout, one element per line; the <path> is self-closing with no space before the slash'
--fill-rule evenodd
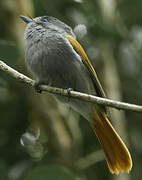
<path id="1" fill-rule="evenodd" d="M 95 71 L 94 67 L 92 66 L 91 61 L 89 60 L 84 49 L 82 48 L 82 46 L 79 44 L 79 42 L 75 38 L 73 38 L 70 35 L 66 35 L 66 37 L 69 40 L 69 42 L 71 43 L 71 45 L 73 46 L 73 48 L 75 49 L 75 51 L 81 56 L 82 62 L 87 67 L 87 69 L 91 75 L 91 79 L 93 81 L 93 85 L 95 87 L 97 95 L 99 97 L 106 97 L 105 92 L 104 92 L 104 90 L 100 84 L 100 81 L 97 77 L 96 71 Z"/>

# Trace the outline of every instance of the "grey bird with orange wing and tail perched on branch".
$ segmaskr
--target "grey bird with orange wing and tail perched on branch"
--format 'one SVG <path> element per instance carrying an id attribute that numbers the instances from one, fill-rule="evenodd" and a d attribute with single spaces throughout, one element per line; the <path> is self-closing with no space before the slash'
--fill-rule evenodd
<path id="1" fill-rule="evenodd" d="M 91 61 L 69 25 L 52 16 L 20 17 L 27 24 L 25 61 L 37 90 L 45 84 L 106 97 Z M 131 155 L 113 128 L 107 109 L 83 100 L 55 96 L 88 120 L 103 148 L 110 172 L 129 173 Z"/>

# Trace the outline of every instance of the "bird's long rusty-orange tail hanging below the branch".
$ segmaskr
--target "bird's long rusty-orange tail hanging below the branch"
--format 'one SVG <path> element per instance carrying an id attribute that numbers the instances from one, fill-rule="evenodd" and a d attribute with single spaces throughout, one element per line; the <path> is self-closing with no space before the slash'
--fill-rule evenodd
<path id="1" fill-rule="evenodd" d="M 129 172 L 132 168 L 131 155 L 105 114 L 95 113 L 93 129 L 105 152 L 110 172 Z"/>

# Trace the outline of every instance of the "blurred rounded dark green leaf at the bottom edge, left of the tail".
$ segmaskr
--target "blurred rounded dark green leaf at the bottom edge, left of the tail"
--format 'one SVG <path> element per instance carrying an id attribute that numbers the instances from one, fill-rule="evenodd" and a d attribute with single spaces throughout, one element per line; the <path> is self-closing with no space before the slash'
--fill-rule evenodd
<path id="1" fill-rule="evenodd" d="M 75 180 L 68 169 L 58 165 L 40 166 L 31 170 L 23 180 Z"/>

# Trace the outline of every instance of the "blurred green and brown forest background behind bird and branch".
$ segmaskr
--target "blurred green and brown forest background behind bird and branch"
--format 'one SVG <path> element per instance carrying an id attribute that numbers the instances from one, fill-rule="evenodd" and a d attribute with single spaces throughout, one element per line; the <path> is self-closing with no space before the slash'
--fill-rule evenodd
<path id="1" fill-rule="evenodd" d="M 141 7 L 141 0 L 1 0 L 0 60 L 31 77 L 19 15 L 55 16 L 75 28 L 108 97 L 142 104 Z M 110 174 L 86 120 L 0 70 L 0 180 L 141 179 L 142 114 L 110 112 L 132 154 L 129 174 Z"/>

